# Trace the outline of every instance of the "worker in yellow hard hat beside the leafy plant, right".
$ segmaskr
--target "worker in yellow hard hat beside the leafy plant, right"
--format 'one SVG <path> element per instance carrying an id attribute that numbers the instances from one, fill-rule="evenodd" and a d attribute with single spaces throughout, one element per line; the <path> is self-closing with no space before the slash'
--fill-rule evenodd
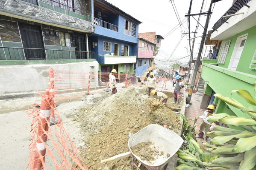
<path id="1" fill-rule="evenodd" d="M 198 136 L 196 136 L 196 138 L 203 138 L 206 132 L 208 132 L 210 129 L 213 130 L 215 123 L 213 122 L 212 124 L 210 124 L 210 122 L 208 122 L 208 119 L 212 117 L 213 114 L 215 114 L 214 111 L 215 111 L 214 105 L 208 105 L 207 110 L 203 112 L 202 116 L 195 117 L 195 119 L 203 120 L 203 123 L 200 125 L 200 131 L 198 133 Z M 208 136 L 205 136 L 205 137 L 207 140 Z"/>

